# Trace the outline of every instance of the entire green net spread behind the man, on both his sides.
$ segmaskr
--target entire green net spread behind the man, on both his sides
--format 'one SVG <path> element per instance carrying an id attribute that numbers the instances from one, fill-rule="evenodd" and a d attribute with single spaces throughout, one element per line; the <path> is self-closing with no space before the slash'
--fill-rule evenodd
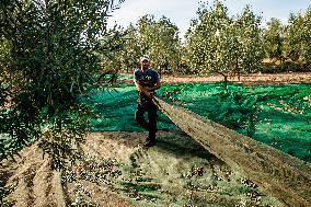
<path id="1" fill-rule="evenodd" d="M 163 85 L 158 95 L 206 118 L 311 162 L 311 89 L 309 84 L 251 85 L 238 83 Z M 94 90 L 88 101 L 96 118 L 92 130 L 142 131 L 134 118 L 137 92 L 133 84 Z M 175 125 L 159 112 L 158 128 Z"/>

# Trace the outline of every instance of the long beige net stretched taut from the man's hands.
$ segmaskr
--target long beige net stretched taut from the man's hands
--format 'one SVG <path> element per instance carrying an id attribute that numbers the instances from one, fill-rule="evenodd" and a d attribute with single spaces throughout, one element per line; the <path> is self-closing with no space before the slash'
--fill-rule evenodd
<path id="1" fill-rule="evenodd" d="M 311 165 L 307 162 L 159 97 L 154 103 L 206 150 L 286 205 L 311 205 Z"/>

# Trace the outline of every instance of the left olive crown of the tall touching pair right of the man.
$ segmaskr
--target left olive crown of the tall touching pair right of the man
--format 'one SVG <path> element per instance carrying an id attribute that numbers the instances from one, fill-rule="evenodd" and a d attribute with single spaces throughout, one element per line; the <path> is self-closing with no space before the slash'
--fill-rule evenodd
<path id="1" fill-rule="evenodd" d="M 189 65 L 198 73 L 220 73 L 227 77 L 230 59 L 231 37 L 228 36 L 232 19 L 228 9 L 219 1 L 212 8 L 203 4 L 197 11 L 198 18 L 193 20 L 186 34 L 186 47 Z"/>

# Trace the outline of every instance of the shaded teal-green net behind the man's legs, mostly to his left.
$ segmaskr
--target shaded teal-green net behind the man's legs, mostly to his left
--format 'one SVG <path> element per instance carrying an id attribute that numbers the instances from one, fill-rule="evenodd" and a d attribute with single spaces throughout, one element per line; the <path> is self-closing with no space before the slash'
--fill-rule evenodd
<path id="1" fill-rule="evenodd" d="M 137 107 L 135 87 L 123 85 L 104 91 L 94 90 L 89 103 L 93 105 L 97 117 L 92 120 L 94 131 L 143 131 L 135 120 Z M 146 114 L 147 115 L 147 114 Z M 146 117 L 147 118 L 147 117 Z M 174 128 L 174 124 L 159 113 L 159 129 Z"/>

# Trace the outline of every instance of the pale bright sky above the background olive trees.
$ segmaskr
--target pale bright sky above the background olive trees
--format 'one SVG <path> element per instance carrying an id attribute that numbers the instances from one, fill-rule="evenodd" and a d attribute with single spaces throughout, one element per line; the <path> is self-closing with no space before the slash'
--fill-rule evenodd
<path id="1" fill-rule="evenodd" d="M 139 18 L 146 14 L 153 14 L 156 20 L 162 15 L 169 18 L 181 31 L 181 37 L 191 25 L 191 20 L 197 18 L 196 11 L 199 2 L 214 0 L 125 0 L 119 9 L 113 11 L 108 19 L 108 27 L 115 23 L 127 27 L 130 23 L 136 24 Z M 252 11 L 263 16 L 263 25 L 270 18 L 277 18 L 286 23 L 290 13 L 306 12 L 311 0 L 224 0 L 230 15 L 240 14 L 246 4 Z"/>

